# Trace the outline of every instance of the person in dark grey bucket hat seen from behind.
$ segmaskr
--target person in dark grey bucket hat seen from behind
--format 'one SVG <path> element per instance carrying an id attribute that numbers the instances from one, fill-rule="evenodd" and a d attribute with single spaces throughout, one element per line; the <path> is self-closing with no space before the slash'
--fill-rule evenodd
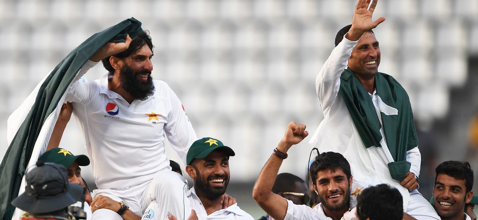
<path id="1" fill-rule="evenodd" d="M 25 180 L 25 192 L 11 201 L 25 211 L 22 219 L 72 219 L 68 206 L 80 199 L 83 188 L 68 182 L 64 166 L 38 161 Z"/>

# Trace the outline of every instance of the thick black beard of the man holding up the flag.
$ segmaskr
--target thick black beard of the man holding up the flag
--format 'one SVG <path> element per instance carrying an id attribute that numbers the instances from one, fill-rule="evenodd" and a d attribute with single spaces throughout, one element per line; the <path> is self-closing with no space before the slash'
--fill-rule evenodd
<path id="1" fill-rule="evenodd" d="M 138 80 L 137 76 L 140 74 L 148 74 L 146 82 L 140 82 L 140 80 Z M 120 69 L 120 84 L 134 99 L 143 101 L 154 94 L 151 71 L 148 70 L 139 70 L 133 73 L 130 66 L 124 65 Z"/>

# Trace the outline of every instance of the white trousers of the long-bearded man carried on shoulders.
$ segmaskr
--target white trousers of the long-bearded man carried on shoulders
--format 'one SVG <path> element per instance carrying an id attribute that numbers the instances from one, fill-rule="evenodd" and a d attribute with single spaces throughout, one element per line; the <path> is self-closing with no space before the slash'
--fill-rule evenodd
<path id="1" fill-rule="evenodd" d="M 171 170 L 160 171 L 151 181 L 121 189 L 96 189 L 93 190 L 93 199 L 98 195 L 109 197 L 115 201 L 123 201 L 130 210 L 142 216 L 145 209 L 152 201 L 161 204 L 156 211 L 161 220 L 168 220 L 172 214 L 176 219 L 187 219 L 191 214 L 191 205 L 186 197 L 187 182 L 183 176 Z M 93 213 L 92 220 L 123 220 L 116 211 L 98 209 Z"/>

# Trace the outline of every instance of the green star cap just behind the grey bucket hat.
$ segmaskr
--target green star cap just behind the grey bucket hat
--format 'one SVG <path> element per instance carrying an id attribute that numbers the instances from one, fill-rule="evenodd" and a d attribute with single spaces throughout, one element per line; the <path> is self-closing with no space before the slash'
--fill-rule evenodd
<path id="1" fill-rule="evenodd" d="M 66 169 L 68 169 L 68 167 L 70 167 L 75 161 L 80 166 L 87 166 L 90 163 L 87 155 L 80 154 L 75 156 L 69 151 L 59 147 L 45 152 L 40 158 L 38 158 L 38 160 L 42 160 L 45 163 L 63 165 Z"/>

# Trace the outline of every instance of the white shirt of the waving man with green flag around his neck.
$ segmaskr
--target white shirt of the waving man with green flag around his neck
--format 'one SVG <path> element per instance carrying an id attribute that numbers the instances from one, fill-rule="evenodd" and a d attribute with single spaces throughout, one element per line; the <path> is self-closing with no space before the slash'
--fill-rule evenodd
<path id="1" fill-rule="evenodd" d="M 358 41 L 342 40 L 334 48 L 315 80 L 317 97 L 324 112 L 324 120 L 320 123 L 309 143 L 318 148 L 319 152 L 334 151 L 344 155 L 351 165 L 353 176 L 352 192 L 360 191 L 362 187 L 378 184 L 390 184 L 397 188 L 403 197 L 403 209 L 406 210 L 410 199 L 409 192 L 400 182 L 390 176 L 388 164 L 393 157 L 387 147 L 383 126 L 380 129 L 382 147 L 365 148 L 360 135 L 348 112 L 345 102 L 338 92 L 340 76 L 348 65 L 348 57 Z M 371 99 L 377 110 L 381 124 L 380 112 L 385 114 L 400 114 L 396 109 L 387 106 L 374 92 Z M 390 108 L 389 108 L 390 107 Z M 420 175 L 421 155 L 418 147 L 407 151 L 406 160 L 411 163 L 410 172 Z M 357 195 L 357 194 L 356 194 Z M 352 206 L 357 205 L 356 197 L 351 196 Z"/>

